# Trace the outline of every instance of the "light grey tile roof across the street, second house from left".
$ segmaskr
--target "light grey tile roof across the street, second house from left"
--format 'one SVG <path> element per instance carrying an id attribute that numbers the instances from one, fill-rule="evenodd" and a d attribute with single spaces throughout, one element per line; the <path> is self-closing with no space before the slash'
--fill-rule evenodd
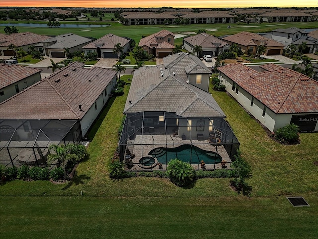
<path id="1" fill-rule="evenodd" d="M 40 44 L 37 44 L 36 46 L 43 46 L 44 42 L 56 42 L 47 48 L 49 49 L 63 49 L 63 48 L 72 48 L 76 47 L 88 42 L 91 42 L 91 39 L 88 39 L 83 36 L 75 35 L 73 33 L 67 33 L 67 34 L 62 34 L 58 35 L 55 37 L 52 37 L 50 39 L 46 39 Z"/>

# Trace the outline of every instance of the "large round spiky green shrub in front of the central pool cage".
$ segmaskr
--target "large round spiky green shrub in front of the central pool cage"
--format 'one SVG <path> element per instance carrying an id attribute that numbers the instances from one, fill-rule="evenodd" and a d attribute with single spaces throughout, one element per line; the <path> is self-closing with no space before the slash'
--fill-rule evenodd
<path id="1" fill-rule="evenodd" d="M 193 182 L 195 171 L 189 163 L 176 158 L 169 161 L 167 175 L 175 185 L 184 187 Z"/>

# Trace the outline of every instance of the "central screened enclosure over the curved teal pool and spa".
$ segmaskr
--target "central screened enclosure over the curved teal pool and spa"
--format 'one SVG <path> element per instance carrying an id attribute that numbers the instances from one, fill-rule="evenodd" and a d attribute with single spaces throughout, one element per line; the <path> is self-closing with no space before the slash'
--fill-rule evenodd
<path id="1" fill-rule="evenodd" d="M 230 168 L 239 141 L 222 117 L 170 112 L 129 113 L 119 141 L 120 160 L 134 171 L 166 169 L 174 158 L 195 169 Z"/>

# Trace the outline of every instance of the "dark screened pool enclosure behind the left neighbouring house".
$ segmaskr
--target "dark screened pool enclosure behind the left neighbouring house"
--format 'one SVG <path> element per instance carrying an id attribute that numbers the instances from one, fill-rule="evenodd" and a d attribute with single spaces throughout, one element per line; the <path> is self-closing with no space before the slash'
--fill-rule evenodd
<path id="1" fill-rule="evenodd" d="M 76 120 L 1 119 L 0 163 L 44 166 L 50 144 L 79 143 L 80 134 Z"/>

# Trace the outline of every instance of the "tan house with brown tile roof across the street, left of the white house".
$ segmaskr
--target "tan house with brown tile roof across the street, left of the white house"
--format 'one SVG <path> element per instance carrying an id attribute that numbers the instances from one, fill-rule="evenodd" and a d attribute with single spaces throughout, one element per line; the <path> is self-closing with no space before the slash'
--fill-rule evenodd
<path id="1" fill-rule="evenodd" d="M 266 52 L 264 55 L 267 56 L 282 55 L 284 49 L 284 45 L 277 41 L 268 39 L 256 33 L 245 31 L 224 37 L 222 40 L 230 43 L 231 45 L 238 44 L 243 51 L 249 51 L 251 54 L 256 54 L 257 46 L 259 45 L 266 47 Z"/>

